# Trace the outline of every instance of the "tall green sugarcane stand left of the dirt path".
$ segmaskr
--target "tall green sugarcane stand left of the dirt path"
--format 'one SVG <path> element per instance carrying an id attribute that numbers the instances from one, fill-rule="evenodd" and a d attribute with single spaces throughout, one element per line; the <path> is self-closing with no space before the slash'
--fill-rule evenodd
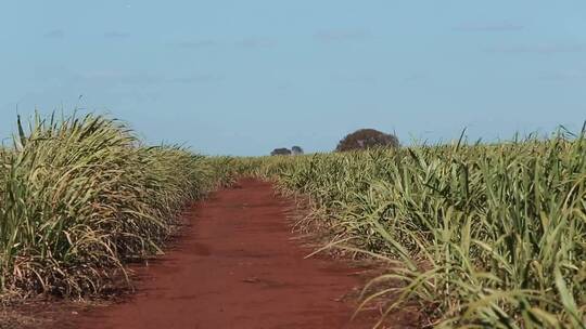
<path id="1" fill-rule="evenodd" d="M 124 263 L 160 251 L 219 168 L 143 145 L 102 116 L 18 119 L 0 149 L 0 292 L 100 292 Z M 116 271 L 117 269 L 117 271 Z"/>

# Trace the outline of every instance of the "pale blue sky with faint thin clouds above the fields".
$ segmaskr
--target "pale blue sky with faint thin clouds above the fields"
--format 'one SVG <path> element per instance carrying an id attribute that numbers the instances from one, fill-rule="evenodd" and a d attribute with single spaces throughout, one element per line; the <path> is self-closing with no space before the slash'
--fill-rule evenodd
<path id="1" fill-rule="evenodd" d="M 0 0 L 0 136 L 89 110 L 208 155 L 577 131 L 586 1 Z"/>

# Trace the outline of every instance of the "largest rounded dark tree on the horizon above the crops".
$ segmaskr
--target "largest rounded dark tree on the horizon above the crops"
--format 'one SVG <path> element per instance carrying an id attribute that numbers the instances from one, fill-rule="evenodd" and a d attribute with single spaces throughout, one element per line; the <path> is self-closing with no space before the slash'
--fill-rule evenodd
<path id="1" fill-rule="evenodd" d="M 337 143 L 336 152 L 367 149 L 372 147 L 398 147 L 399 142 L 394 134 L 385 134 L 374 129 L 360 129 L 346 135 Z"/>

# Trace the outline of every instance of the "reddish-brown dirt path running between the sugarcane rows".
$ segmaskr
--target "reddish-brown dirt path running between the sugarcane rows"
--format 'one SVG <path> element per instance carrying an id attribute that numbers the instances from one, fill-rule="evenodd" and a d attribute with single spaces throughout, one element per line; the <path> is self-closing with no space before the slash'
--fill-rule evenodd
<path id="1" fill-rule="evenodd" d="M 73 325 L 106 328 L 370 328 L 348 324 L 342 301 L 359 268 L 323 259 L 291 238 L 288 203 L 270 184 L 241 181 L 196 203 L 176 250 L 138 269 L 138 292 L 124 303 L 82 313 Z M 141 273 L 142 271 L 142 273 Z M 369 324 L 370 323 L 370 324 Z"/>

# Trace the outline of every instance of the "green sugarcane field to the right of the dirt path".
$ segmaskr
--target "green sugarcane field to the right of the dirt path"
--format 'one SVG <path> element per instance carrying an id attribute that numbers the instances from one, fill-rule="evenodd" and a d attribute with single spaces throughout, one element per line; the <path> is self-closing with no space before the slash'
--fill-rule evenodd
<path id="1" fill-rule="evenodd" d="M 243 161 L 309 195 L 347 248 L 398 260 L 365 304 L 418 303 L 437 328 L 586 328 L 584 133 Z"/>

